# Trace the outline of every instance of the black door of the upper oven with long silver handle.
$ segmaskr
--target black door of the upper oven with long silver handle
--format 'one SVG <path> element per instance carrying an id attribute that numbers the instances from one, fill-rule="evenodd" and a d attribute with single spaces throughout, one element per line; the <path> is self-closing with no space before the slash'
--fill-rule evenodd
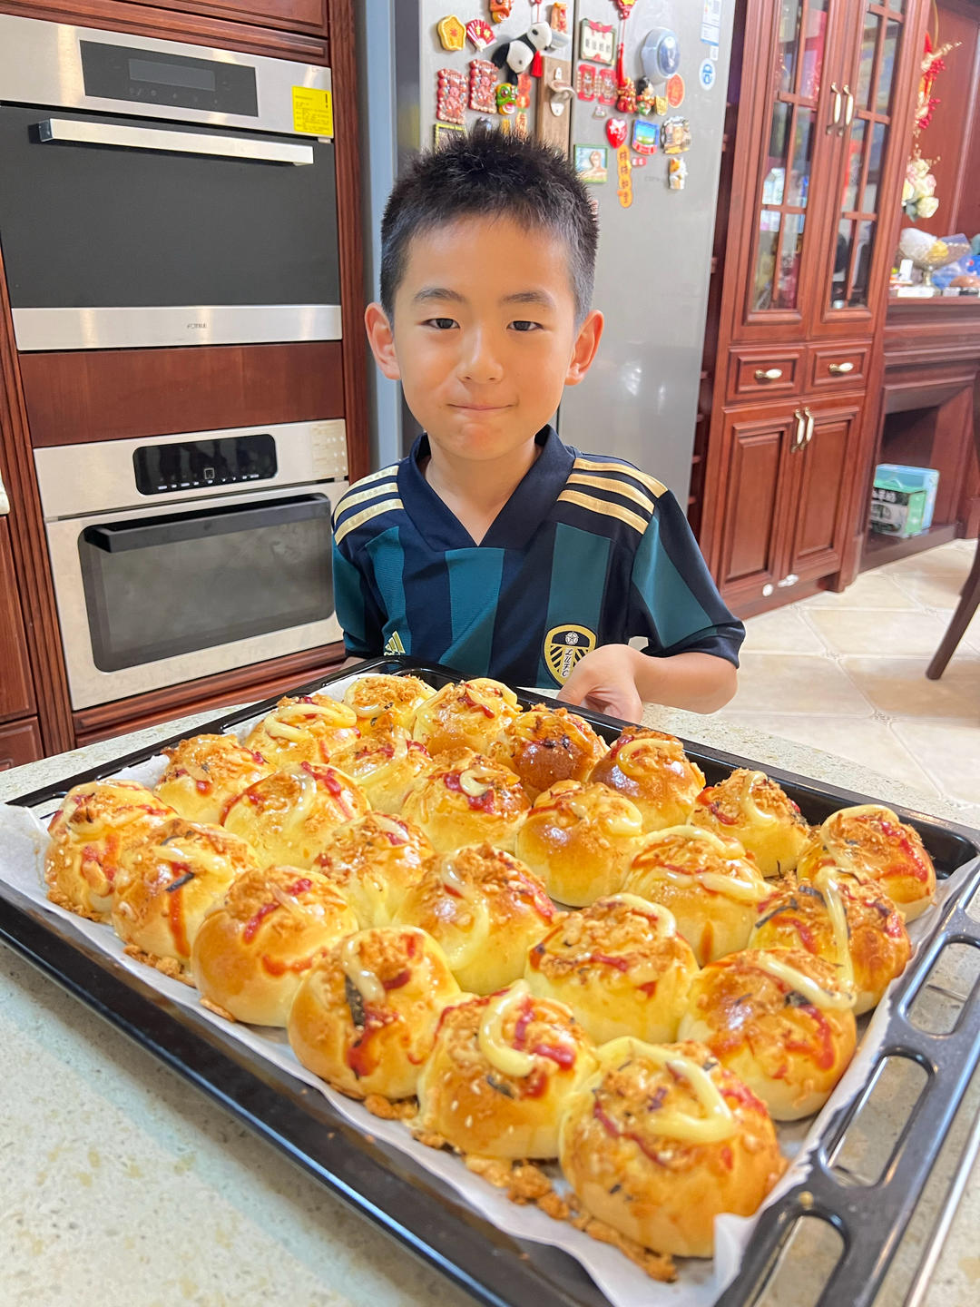
<path id="1" fill-rule="evenodd" d="M 337 340 L 333 145 L 0 106 L 22 350 Z"/>

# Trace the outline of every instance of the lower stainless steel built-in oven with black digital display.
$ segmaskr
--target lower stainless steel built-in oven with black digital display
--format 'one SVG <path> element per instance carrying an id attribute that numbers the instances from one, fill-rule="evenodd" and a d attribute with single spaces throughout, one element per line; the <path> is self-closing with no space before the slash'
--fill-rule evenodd
<path id="1" fill-rule="evenodd" d="M 72 706 L 341 638 L 342 421 L 34 451 Z"/>

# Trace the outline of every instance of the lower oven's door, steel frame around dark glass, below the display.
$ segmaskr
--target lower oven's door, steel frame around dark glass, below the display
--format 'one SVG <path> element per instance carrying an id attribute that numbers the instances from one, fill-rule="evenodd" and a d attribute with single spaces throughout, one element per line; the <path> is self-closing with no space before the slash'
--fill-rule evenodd
<path id="1" fill-rule="evenodd" d="M 72 706 L 338 640 L 331 501 L 344 490 L 293 486 L 48 523 Z"/>

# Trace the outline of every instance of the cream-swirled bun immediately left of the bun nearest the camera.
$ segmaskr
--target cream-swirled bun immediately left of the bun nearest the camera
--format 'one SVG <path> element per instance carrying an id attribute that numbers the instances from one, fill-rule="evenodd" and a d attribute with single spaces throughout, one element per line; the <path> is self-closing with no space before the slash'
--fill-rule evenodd
<path id="1" fill-rule="evenodd" d="M 568 1008 L 519 980 L 446 1008 L 418 1078 L 418 1123 L 477 1157 L 557 1157 L 562 1104 L 595 1065 Z"/>

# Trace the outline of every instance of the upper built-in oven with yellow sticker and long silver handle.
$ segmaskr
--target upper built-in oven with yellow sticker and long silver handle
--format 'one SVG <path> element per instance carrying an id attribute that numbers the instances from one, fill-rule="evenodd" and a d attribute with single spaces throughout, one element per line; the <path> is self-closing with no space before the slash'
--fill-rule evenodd
<path id="1" fill-rule="evenodd" d="M 21 350 L 341 337 L 329 68 L 0 14 Z"/>

